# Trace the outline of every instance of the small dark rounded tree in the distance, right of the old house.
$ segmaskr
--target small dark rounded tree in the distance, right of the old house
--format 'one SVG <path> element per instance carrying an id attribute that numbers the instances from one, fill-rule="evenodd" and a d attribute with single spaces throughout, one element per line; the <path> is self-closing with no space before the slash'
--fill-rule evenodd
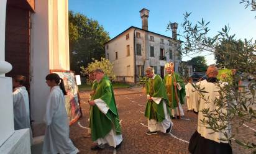
<path id="1" fill-rule="evenodd" d="M 205 72 L 207 70 L 206 59 L 202 56 L 193 57 L 188 64 L 192 65 L 196 71 Z"/>

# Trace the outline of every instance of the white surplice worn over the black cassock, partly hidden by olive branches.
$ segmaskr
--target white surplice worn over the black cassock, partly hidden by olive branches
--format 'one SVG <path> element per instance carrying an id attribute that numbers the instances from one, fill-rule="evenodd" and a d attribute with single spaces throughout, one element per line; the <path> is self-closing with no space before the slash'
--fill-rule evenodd
<path id="1" fill-rule="evenodd" d="M 198 133 L 201 135 L 201 137 L 207 138 L 209 140 L 214 140 L 215 142 L 222 142 L 227 143 L 227 141 L 219 140 L 220 138 L 226 138 L 223 134 L 219 132 L 214 132 L 211 129 L 207 129 L 206 125 L 203 125 L 201 123 L 201 120 L 205 119 L 208 120 L 207 117 L 203 116 L 203 113 L 201 112 L 203 109 L 209 108 L 209 111 L 213 111 L 214 109 L 217 109 L 217 106 L 214 104 L 214 100 L 219 97 L 219 87 L 217 86 L 217 83 L 208 83 L 208 81 L 203 80 L 199 81 L 197 83 L 200 87 L 200 89 L 204 88 L 204 91 L 207 91 L 208 93 L 203 93 L 204 98 L 202 96 L 199 96 L 199 112 L 198 112 Z M 224 86 L 227 83 L 221 83 L 221 87 Z M 204 100 L 209 100 L 210 103 L 206 103 Z M 226 109 L 222 109 L 222 112 L 227 112 Z M 227 130 L 225 131 L 228 135 L 231 134 L 231 125 L 228 124 Z M 211 134 L 213 133 L 213 134 Z"/>

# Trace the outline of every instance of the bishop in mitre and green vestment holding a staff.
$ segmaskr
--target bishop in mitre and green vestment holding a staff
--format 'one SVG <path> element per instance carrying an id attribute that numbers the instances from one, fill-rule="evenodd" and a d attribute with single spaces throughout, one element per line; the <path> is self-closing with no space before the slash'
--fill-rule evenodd
<path id="1" fill-rule="evenodd" d="M 184 104 L 185 102 L 185 84 L 183 79 L 180 78 L 180 75 L 178 75 L 178 73 L 175 73 L 173 63 L 166 63 L 165 70 L 167 71 L 167 75 L 165 75 L 163 83 L 165 84 L 168 100 L 170 102 L 171 117 L 172 119 L 174 119 L 176 115 L 177 118 L 179 119 L 180 116 L 184 116 L 181 104 Z M 178 100 L 175 96 L 176 94 Z"/>

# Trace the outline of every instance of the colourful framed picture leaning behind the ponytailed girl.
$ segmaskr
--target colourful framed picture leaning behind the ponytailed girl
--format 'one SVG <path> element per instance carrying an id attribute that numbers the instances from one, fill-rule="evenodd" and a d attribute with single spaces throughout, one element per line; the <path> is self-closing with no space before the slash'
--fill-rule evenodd
<path id="1" fill-rule="evenodd" d="M 68 93 L 65 95 L 65 107 L 71 125 L 82 116 L 75 71 L 50 70 L 50 73 L 57 73 L 64 81 L 65 89 Z"/>

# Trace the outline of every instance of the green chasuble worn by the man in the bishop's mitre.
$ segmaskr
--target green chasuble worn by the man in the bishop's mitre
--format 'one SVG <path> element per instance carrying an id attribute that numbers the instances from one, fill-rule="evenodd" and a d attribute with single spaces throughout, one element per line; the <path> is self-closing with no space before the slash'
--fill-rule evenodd
<path id="1" fill-rule="evenodd" d="M 180 100 L 180 104 L 184 104 L 185 102 L 185 96 L 186 96 L 186 91 L 185 91 L 185 84 L 183 82 L 183 79 L 180 78 L 180 75 L 178 73 L 172 73 L 171 76 L 168 74 L 165 75 L 165 78 L 163 79 L 163 83 L 165 84 L 165 88 L 167 89 L 167 96 L 170 102 L 171 109 L 175 109 L 177 106 L 177 100 L 175 97 L 175 88 L 173 85 L 173 81 L 176 81 L 176 83 L 179 83 L 181 86 L 181 89 L 179 91 L 178 85 L 177 85 L 177 93 L 178 93 L 178 98 Z"/>

